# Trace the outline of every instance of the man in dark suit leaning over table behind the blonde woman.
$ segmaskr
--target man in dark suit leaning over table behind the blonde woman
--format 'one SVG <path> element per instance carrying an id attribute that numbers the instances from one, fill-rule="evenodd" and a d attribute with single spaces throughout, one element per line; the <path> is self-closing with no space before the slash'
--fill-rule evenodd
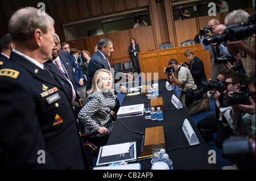
<path id="1" fill-rule="evenodd" d="M 87 78 L 86 90 L 92 89 L 93 74 L 97 70 L 100 70 L 100 69 L 110 70 L 111 69 L 108 57 L 110 57 L 110 54 L 112 52 L 114 52 L 113 42 L 110 39 L 103 38 L 98 42 L 97 45 L 98 45 L 98 50 L 90 58 L 90 61 L 89 61 L 89 64 L 88 64 L 88 69 L 87 69 L 87 72 L 86 72 L 86 78 Z M 118 73 L 119 73 L 118 71 L 114 71 L 114 76 Z M 123 74 L 124 78 L 129 79 L 129 80 L 133 80 L 133 75 L 130 75 L 130 74 L 127 74 L 127 73 L 121 73 L 121 74 Z M 119 90 L 123 93 L 128 93 L 129 92 L 129 89 L 127 89 L 126 87 L 123 87 L 123 86 L 120 86 Z"/>

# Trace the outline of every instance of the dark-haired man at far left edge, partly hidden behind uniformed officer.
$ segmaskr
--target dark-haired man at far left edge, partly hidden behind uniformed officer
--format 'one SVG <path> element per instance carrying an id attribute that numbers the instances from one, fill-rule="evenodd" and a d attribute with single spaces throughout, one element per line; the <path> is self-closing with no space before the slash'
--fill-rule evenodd
<path id="1" fill-rule="evenodd" d="M 3 64 L 5 64 L 10 60 L 11 50 L 14 49 L 14 43 L 9 33 L 6 35 L 3 35 L 3 37 L 0 40 L 0 45 L 2 48 L 2 53 L 0 54 L 0 69 L 1 69 Z"/>

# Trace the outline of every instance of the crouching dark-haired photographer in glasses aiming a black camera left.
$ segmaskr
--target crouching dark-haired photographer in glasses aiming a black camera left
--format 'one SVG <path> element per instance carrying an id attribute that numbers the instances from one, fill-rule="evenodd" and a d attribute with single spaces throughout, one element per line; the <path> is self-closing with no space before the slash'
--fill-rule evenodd
<path id="1" fill-rule="evenodd" d="M 232 107 L 230 105 L 221 106 L 220 96 L 222 92 L 237 92 L 238 86 L 245 82 L 245 78 L 240 73 L 229 73 L 226 75 L 225 81 L 203 82 L 202 87 L 204 90 L 214 90 L 214 97 L 216 100 L 216 113 L 215 115 L 209 115 L 205 119 L 197 123 L 197 128 L 200 133 L 207 135 L 206 132 L 217 131 L 216 146 L 221 148 L 222 143 L 226 138 L 232 135 L 237 135 L 238 126 L 242 128 L 244 132 L 244 125 L 238 125 L 237 122 L 232 121 L 231 112 Z M 211 133 L 212 134 L 212 133 Z M 206 140 L 209 141 L 209 140 Z"/>

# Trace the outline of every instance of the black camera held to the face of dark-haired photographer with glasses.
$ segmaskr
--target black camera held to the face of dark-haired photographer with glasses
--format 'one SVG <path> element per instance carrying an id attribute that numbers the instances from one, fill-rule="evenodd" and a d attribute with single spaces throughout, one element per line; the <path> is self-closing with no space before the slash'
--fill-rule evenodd
<path id="1" fill-rule="evenodd" d="M 216 90 L 218 92 L 223 92 L 224 90 L 226 90 L 226 82 L 219 81 L 219 79 L 212 79 L 209 82 L 207 81 L 201 82 L 201 87 L 203 87 L 203 90 L 205 92 L 209 90 Z"/>

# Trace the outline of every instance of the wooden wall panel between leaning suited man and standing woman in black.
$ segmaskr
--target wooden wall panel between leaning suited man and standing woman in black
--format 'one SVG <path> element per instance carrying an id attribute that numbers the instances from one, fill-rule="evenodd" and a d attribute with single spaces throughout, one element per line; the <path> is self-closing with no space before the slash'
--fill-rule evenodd
<path id="1" fill-rule="evenodd" d="M 112 59 L 129 57 L 129 30 L 108 33 L 108 38 L 113 41 Z"/>

